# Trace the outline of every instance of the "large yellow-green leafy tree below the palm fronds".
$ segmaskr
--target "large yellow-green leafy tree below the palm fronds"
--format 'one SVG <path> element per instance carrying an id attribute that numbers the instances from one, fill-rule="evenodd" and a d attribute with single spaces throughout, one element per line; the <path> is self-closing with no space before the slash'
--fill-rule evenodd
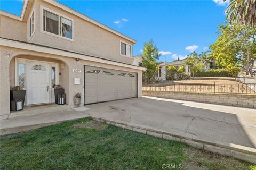
<path id="1" fill-rule="evenodd" d="M 237 66 L 242 63 L 246 74 L 252 75 L 256 59 L 256 27 L 238 24 L 219 25 L 219 37 L 210 46 L 218 67 Z"/>

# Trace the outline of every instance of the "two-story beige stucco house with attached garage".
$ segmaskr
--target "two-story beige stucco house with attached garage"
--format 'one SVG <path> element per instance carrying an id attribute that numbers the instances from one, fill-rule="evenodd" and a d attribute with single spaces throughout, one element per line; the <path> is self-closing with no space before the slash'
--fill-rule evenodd
<path id="1" fill-rule="evenodd" d="M 56 1 L 25 0 L 21 16 L 0 11 L 0 118 L 10 114 L 10 87 L 26 89 L 25 105 L 54 102 L 54 85 L 73 105 L 142 96 L 136 41 Z M 137 60 L 137 59 L 136 59 Z"/>

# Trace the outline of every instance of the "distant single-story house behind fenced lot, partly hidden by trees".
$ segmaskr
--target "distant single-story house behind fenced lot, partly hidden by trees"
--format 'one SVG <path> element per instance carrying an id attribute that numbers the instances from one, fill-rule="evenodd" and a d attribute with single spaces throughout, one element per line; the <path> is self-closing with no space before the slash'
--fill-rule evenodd
<path id="1" fill-rule="evenodd" d="M 157 72 L 155 80 L 159 81 L 165 81 L 166 80 L 166 66 L 174 66 L 177 69 L 179 69 L 181 66 L 185 66 L 185 73 L 190 73 L 189 66 L 185 63 L 186 58 L 183 60 L 177 60 L 173 62 L 165 62 L 165 63 L 160 63 L 159 64 L 159 70 Z M 205 60 L 203 63 L 203 70 L 208 70 L 210 68 L 210 63 L 209 61 Z"/>

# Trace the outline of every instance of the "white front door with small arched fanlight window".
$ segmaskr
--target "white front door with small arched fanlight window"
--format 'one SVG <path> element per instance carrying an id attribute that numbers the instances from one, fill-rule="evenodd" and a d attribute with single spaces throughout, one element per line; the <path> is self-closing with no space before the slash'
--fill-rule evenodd
<path id="1" fill-rule="evenodd" d="M 49 103 L 49 63 L 28 61 L 27 104 Z"/>

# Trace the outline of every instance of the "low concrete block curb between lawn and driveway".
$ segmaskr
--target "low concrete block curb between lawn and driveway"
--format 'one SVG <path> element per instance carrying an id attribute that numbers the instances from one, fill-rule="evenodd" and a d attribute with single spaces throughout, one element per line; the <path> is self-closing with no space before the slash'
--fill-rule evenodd
<path id="1" fill-rule="evenodd" d="M 92 116 L 91 116 L 92 117 Z M 112 121 L 106 120 L 104 118 L 92 117 L 95 121 L 104 122 L 110 125 L 117 126 L 119 128 L 148 134 L 157 138 L 163 138 L 167 140 L 174 140 L 178 142 L 184 142 L 188 145 L 195 147 L 197 149 L 202 149 L 206 151 L 210 151 L 213 153 L 217 153 L 220 155 L 233 157 L 235 159 L 244 160 L 246 162 L 250 162 L 252 164 L 256 164 L 256 149 L 245 147 L 241 145 L 236 145 L 234 143 L 227 143 L 223 141 L 203 141 L 195 138 L 184 137 L 179 134 L 172 134 L 169 132 L 164 132 L 158 129 L 154 129 L 148 126 L 130 124 L 122 121 Z"/>

